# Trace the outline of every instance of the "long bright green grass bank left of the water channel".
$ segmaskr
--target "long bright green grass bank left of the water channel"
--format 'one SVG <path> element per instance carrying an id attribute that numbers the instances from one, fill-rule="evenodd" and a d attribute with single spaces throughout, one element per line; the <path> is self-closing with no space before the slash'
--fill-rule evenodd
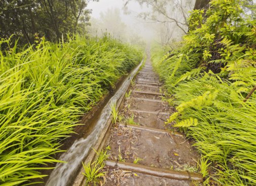
<path id="1" fill-rule="evenodd" d="M 106 36 L 58 44 L 42 38 L 0 51 L 0 184 L 44 176 L 36 170 L 57 162 L 60 140 L 140 60 L 140 52 Z"/>

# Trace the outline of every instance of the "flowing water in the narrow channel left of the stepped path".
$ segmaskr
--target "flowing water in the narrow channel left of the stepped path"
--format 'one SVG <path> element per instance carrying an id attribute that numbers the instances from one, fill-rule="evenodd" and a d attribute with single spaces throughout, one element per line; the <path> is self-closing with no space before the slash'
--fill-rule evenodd
<path id="1" fill-rule="evenodd" d="M 142 62 L 124 80 L 123 84 L 116 91 L 116 94 L 109 99 L 106 106 L 102 109 L 100 117 L 92 132 L 86 138 L 76 140 L 68 151 L 60 156 L 59 160 L 67 163 L 56 164 L 56 168 L 52 171 L 46 183 L 47 186 L 65 186 L 70 184 L 70 180 L 76 176 L 74 174 L 76 174 L 77 170 L 81 167 L 82 161 L 88 155 L 91 147 L 96 143 L 109 116 L 111 116 L 111 104 L 117 102 L 123 97 L 131 83 L 131 80 L 141 65 Z"/>

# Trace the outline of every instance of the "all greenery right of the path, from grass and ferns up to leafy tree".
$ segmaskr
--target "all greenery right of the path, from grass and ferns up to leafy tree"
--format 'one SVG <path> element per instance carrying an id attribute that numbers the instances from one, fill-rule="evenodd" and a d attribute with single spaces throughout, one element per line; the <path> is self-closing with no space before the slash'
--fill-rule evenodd
<path id="1" fill-rule="evenodd" d="M 247 3 L 212 0 L 191 13 L 177 49 L 153 50 L 176 106 L 168 122 L 201 152 L 205 185 L 256 184 L 256 20 Z"/>

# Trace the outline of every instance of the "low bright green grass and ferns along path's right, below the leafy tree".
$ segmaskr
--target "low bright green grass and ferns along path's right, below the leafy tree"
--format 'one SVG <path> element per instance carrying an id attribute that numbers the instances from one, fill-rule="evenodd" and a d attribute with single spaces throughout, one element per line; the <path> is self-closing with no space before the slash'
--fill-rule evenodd
<path id="1" fill-rule="evenodd" d="M 178 62 L 180 56 L 168 60 L 159 56 L 162 53 L 153 55 L 154 66 L 172 95 L 177 110 L 168 122 L 174 121 L 174 126 L 194 141 L 203 159 L 212 162 L 207 166 L 211 171 L 206 173 L 204 170 L 204 185 L 213 182 L 255 185 L 256 94 L 254 92 L 244 102 L 246 94 L 240 92 L 241 87 L 248 90 L 252 87 L 247 83 L 238 86 L 236 81 L 221 78 L 218 74 L 192 69 L 193 63 L 186 58 Z M 248 72 L 250 82 L 256 84 L 252 76 L 256 72 L 254 69 L 237 67 L 232 71 L 232 77 L 245 78 L 242 74 Z M 209 164 L 203 163 L 202 166 Z"/>

